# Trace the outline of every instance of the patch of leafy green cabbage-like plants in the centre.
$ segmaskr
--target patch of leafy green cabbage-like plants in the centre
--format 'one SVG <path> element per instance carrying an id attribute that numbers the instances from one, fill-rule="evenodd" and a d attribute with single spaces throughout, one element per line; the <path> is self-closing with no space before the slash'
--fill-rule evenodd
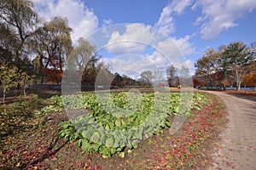
<path id="1" fill-rule="evenodd" d="M 59 135 L 75 141 L 84 153 L 100 153 L 105 158 L 122 156 L 125 148 L 137 148 L 140 141 L 170 128 L 169 116 L 189 117 L 190 110 L 200 110 L 205 101 L 199 93 L 126 92 L 73 94 L 52 99 L 70 117 L 61 123 Z"/>

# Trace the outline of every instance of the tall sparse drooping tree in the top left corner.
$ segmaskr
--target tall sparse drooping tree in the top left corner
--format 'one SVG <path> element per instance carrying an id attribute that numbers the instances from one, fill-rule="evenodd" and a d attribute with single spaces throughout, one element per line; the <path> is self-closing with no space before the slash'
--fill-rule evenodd
<path id="1" fill-rule="evenodd" d="M 32 9 L 30 0 L 0 1 L 0 22 L 9 29 L 15 42 L 10 43 L 15 55 L 15 65 L 20 67 L 20 59 L 26 56 L 28 37 L 38 23 L 38 14 Z"/>

